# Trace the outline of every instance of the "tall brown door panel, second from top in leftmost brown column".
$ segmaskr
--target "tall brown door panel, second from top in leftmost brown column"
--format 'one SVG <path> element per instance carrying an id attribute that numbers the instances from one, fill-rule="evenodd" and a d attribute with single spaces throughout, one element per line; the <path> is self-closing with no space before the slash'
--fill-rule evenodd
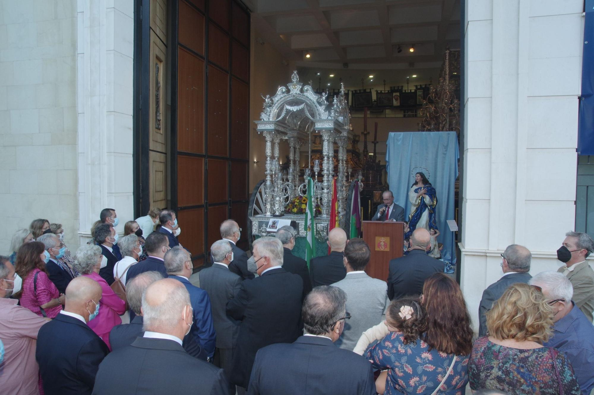
<path id="1" fill-rule="evenodd" d="M 204 153 L 204 60 L 179 47 L 178 150 Z"/>

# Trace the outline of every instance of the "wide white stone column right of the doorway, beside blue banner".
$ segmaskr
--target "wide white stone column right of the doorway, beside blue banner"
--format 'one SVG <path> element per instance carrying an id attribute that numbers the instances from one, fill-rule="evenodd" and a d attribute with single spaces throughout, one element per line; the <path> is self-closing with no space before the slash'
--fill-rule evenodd
<path id="1" fill-rule="evenodd" d="M 573 230 L 581 0 L 465 1 L 462 289 L 475 330 L 500 254 L 522 244 L 531 273 L 556 270 Z"/>

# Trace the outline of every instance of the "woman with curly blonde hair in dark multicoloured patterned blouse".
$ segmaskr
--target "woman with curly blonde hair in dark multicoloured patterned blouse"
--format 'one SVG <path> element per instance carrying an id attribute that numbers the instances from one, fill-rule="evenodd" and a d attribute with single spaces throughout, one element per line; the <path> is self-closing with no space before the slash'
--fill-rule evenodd
<path id="1" fill-rule="evenodd" d="M 580 394 L 563 352 L 544 347 L 553 311 L 538 286 L 515 283 L 486 313 L 489 336 L 476 339 L 468 372 L 472 390 L 510 394 Z"/>

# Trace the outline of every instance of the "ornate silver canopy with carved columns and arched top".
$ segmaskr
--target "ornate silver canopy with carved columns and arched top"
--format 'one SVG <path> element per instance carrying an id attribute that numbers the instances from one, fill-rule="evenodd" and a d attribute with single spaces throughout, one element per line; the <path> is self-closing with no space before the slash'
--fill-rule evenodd
<path id="1" fill-rule="evenodd" d="M 299 82 L 294 71 L 292 81 L 286 87 L 279 87 L 273 97 L 264 98 L 260 120 L 254 121 L 257 132 L 266 139 L 266 179 L 263 183 L 263 212 L 259 215 L 249 213 L 252 221 L 252 235 L 266 234 L 268 220 L 273 215 L 285 214 L 290 200 L 297 196 L 307 196 L 308 176 L 314 176 L 310 165 L 305 169 L 301 181 L 299 156 L 300 147 L 311 144 L 311 133 L 321 134 L 323 142 L 323 161 L 321 164 L 322 181 L 317 181 L 318 163 L 314 166 L 315 186 L 312 195 L 314 206 L 318 203 L 321 215 L 315 217 L 315 231 L 318 240 L 327 238 L 330 220 L 331 182 L 334 177 L 334 142 L 338 146 L 337 198 L 339 224 L 344 227 L 348 183 L 346 179 L 346 145 L 352 140 L 349 106 L 345 98 L 345 89 L 341 84 L 340 94 L 329 104 L 326 94 L 316 94 L 311 86 Z M 279 144 L 286 141 L 289 145 L 289 170 L 280 171 Z M 311 155 L 311 152 L 310 152 Z M 311 163 L 311 157 L 308 164 Z M 305 236 L 304 215 L 285 214 L 283 219 L 296 221 L 298 235 Z"/>

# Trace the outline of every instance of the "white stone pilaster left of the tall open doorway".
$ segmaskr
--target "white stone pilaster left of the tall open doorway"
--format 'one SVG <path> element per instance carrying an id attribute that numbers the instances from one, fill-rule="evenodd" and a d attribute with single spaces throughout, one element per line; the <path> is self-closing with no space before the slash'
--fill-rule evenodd
<path id="1" fill-rule="evenodd" d="M 134 2 L 79 0 L 78 200 L 81 244 L 103 208 L 124 230 L 134 219 L 132 60 Z"/>

